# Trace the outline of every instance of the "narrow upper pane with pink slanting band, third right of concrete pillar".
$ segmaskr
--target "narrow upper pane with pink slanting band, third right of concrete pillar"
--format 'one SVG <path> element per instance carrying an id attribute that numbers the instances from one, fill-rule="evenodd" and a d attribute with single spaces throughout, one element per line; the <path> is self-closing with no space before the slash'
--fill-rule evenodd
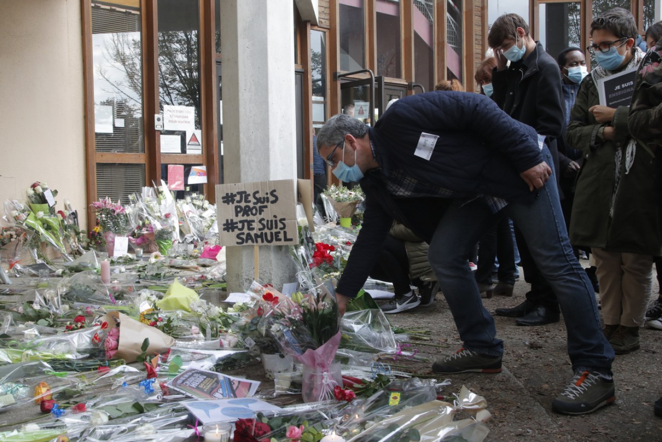
<path id="1" fill-rule="evenodd" d="M 434 89 L 434 1 L 414 0 L 414 5 L 414 82 L 429 92 Z"/>

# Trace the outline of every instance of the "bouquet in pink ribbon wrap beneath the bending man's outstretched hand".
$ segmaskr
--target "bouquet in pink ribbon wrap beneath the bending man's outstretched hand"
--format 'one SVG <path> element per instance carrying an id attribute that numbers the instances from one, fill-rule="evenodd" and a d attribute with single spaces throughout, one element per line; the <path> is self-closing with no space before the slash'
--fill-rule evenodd
<path id="1" fill-rule="evenodd" d="M 334 357 L 340 344 L 338 304 L 324 286 L 316 293 L 295 292 L 277 301 L 266 318 L 269 332 L 286 355 L 303 364 L 304 402 L 334 399 L 342 384 L 340 364 Z"/>

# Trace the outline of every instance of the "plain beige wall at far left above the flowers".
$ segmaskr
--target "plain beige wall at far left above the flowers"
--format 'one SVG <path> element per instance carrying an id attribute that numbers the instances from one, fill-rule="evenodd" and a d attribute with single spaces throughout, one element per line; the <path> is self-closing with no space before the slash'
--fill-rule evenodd
<path id="1" fill-rule="evenodd" d="M 42 180 L 84 224 L 80 2 L 0 0 L 0 11 L 0 203 Z"/>

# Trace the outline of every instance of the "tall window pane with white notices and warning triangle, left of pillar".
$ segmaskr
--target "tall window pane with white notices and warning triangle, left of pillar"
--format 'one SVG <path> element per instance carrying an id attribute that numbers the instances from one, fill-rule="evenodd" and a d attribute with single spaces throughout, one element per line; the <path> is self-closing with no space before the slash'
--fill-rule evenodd
<path id="1" fill-rule="evenodd" d="M 165 130 L 161 135 L 180 137 L 181 150 L 176 151 L 175 138 L 162 138 L 163 153 L 185 154 L 193 130 L 201 129 L 198 6 L 197 0 L 158 0 L 160 109 L 164 111 L 164 106 L 179 106 L 173 112 L 187 115 L 175 122 L 164 113 Z M 166 139 L 171 148 L 166 147 Z M 202 153 L 201 150 L 192 152 Z"/>

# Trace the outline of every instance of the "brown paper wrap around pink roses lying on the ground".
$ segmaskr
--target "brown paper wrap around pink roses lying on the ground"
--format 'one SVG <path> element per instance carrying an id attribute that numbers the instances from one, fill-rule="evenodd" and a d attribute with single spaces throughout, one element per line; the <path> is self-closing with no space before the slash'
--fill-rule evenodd
<path id="1" fill-rule="evenodd" d="M 142 353 L 140 347 L 142 347 L 145 338 L 150 340 L 150 345 L 146 351 L 148 357 L 164 353 L 164 351 L 175 345 L 173 337 L 166 335 L 156 327 L 145 325 L 119 311 L 110 311 L 101 321 L 107 321 L 109 327 L 119 327 L 120 337 L 117 353 L 113 358 L 124 359 L 127 364 L 136 362 L 138 355 Z"/>

